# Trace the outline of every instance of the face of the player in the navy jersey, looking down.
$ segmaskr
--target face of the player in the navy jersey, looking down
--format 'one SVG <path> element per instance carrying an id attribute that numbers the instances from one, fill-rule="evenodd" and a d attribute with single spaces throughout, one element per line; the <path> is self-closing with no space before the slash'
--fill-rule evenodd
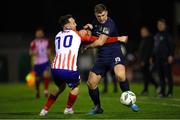
<path id="1" fill-rule="evenodd" d="M 107 14 L 108 14 L 107 11 L 103 11 L 101 13 L 95 13 L 95 16 L 96 16 L 96 19 L 98 20 L 98 22 L 105 23 L 108 18 Z"/>

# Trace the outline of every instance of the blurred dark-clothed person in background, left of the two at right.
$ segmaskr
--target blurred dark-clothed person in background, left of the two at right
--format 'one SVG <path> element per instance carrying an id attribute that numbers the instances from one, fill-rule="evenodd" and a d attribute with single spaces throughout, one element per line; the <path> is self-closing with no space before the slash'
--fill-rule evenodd
<path id="1" fill-rule="evenodd" d="M 158 84 L 152 77 L 153 66 L 150 65 L 149 62 L 153 52 L 154 40 L 149 29 L 146 26 L 141 27 L 140 35 L 141 35 L 141 42 L 138 51 L 139 54 L 138 58 L 139 58 L 140 69 L 142 72 L 142 78 L 144 82 L 144 88 L 141 92 L 141 95 L 148 95 L 148 86 L 150 82 L 155 86 L 156 89 L 158 87 Z"/>

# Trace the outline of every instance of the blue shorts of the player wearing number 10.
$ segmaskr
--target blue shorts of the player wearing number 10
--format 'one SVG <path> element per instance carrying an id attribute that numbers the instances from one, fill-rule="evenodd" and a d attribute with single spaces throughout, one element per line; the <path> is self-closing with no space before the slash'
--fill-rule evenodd
<path id="1" fill-rule="evenodd" d="M 75 88 L 80 84 L 80 72 L 63 70 L 63 69 L 52 69 L 52 77 L 55 84 L 59 87 L 64 82 L 71 88 Z"/>

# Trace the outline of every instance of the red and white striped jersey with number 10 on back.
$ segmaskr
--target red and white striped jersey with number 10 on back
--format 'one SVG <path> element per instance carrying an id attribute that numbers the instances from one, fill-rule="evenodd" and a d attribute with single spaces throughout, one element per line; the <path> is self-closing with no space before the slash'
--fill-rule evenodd
<path id="1" fill-rule="evenodd" d="M 81 37 L 75 31 L 60 31 L 55 38 L 56 56 L 51 68 L 76 71 L 80 44 Z"/>

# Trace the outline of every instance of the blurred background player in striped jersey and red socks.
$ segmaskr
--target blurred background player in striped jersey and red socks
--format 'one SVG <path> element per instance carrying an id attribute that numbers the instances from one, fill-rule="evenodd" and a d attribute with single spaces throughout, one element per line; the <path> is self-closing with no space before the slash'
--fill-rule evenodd
<path id="1" fill-rule="evenodd" d="M 43 28 L 37 28 L 35 39 L 30 44 L 30 55 L 32 56 L 32 66 L 36 73 L 36 98 L 40 97 L 40 79 L 44 82 L 44 95 L 48 97 L 48 83 L 50 78 L 50 47 L 49 41 L 45 38 Z"/>

